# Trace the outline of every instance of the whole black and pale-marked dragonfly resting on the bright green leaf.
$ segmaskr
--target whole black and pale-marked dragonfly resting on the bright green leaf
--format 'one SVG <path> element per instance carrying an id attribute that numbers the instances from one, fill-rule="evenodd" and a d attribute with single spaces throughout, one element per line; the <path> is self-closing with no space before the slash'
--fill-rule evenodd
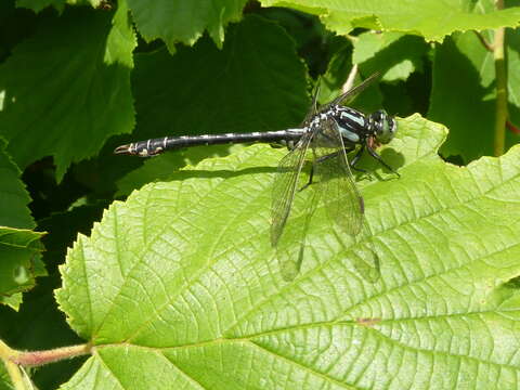
<path id="1" fill-rule="evenodd" d="M 284 255 L 280 250 L 282 276 L 290 282 L 300 271 L 311 217 L 321 199 L 324 200 L 328 219 L 342 232 L 354 238 L 361 232 L 368 234 L 363 196 L 352 174 L 352 170 L 366 172 L 358 167 L 365 151 L 381 166 L 399 176 L 376 152 L 377 146 L 388 144 L 394 138 L 398 131 L 395 119 L 384 109 L 365 115 L 342 105 L 365 90 L 378 77 L 379 73 L 373 74 L 323 106 L 317 105 L 317 88 L 311 108 L 298 128 L 249 133 L 164 136 L 121 145 L 116 147 L 114 153 L 150 157 L 166 151 L 197 145 L 263 142 L 286 146 L 289 152 L 278 164 L 272 191 L 270 235 L 273 248 L 290 246 L 291 239 L 295 239 L 294 234 L 284 234 L 284 231 L 287 230 L 295 196 L 308 186 L 312 185 L 315 188 L 308 197 L 308 205 L 303 207 L 303 224 L 295 229 L 298 232 L 296 242 L 300 244 L 298 253 Z M 356 152 L 349 161 L 347 155 L 354 151 Z M 306 161 L 311 161 L 311 168 L 308 181 L 302 185 Z M 363 259 L 358 261 L 356 270 L 365 280 L 374 282 L 379 275 L 379 258 L 369 240 L 360 257 Z"/>

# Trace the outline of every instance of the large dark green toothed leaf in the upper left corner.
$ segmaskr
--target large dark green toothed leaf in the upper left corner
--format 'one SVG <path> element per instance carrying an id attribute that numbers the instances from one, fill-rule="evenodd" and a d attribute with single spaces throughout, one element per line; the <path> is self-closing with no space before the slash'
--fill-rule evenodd
<path id="1" fill-rule="evenodd" d="M 135 39 L 125 1 L 116 13 L 78 8 L 46 16 L 38 35 L 0 65 L 1 132 L 22 168 L 53 155 L 58 179 L 73 161 L 130 132 Z"/>

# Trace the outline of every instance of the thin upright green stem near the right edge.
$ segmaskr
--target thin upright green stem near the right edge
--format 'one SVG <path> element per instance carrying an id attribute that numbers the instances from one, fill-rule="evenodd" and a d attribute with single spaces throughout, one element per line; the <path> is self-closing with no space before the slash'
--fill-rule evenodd
<path id="1" fill-rule="evenodd" d="M 504 9 L 504 0 L 496 0 L 496 8 Z M 505 150 L 506 121 L 507 121 L 507 69 L 505 61 L 506 29 L 504 27 L 495 30 L 493 43 L 493 57 L 495 61 L 496 77 L 496 116 L 495 116 L 495 141 L 493 154 L 502 156 Z"/>

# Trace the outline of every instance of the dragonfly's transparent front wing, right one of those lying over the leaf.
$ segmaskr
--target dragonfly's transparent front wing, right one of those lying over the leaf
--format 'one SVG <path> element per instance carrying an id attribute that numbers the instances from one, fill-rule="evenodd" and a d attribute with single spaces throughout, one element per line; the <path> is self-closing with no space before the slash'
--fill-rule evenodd
<path id="1" fill-rule="evenodd" d="M 374 282 L 379 277 L 379 259 L 366 225 L 363 197 L 354 183 L 344 144 L 334 119 L 322 121 L 312 147 L 315 155 L 314 177 L 318 180 L 320 197 L 328 218 L 343 232 L 363 238 L 349 257 L 358 272 Z"/>

